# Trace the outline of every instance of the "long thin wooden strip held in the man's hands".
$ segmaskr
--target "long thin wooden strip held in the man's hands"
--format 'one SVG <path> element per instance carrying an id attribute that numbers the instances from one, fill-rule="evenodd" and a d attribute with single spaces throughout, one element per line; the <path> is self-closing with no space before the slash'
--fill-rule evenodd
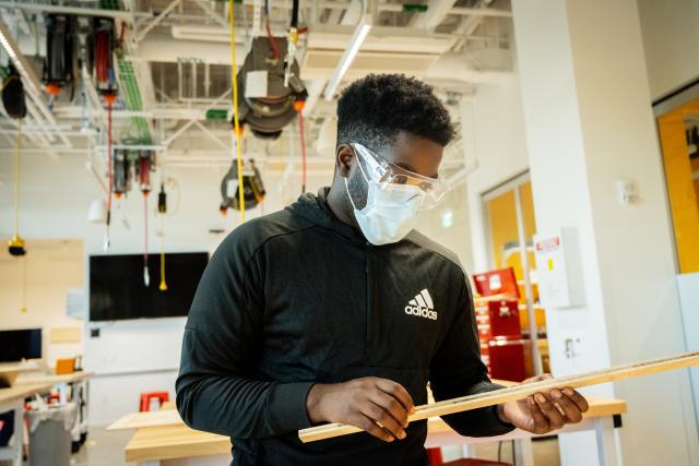
<path id="1" fill-rule="evenodd" d="M 410 420 L 427 419 L 433 416 L 445 416 L 469 409 L 499 405 L 501 403 L 525 398 L 537 392 L 548 392 L 553 389 L 560 389 L 564 386 L 579 389 L 582 386 L 615 382 L 633 377 L 650 375 L 689 366 L 699 366 L 699 351 L 513 385 L 493 392 L 478 393 L 476 395 L 462 396 L 459 398 L 445 399 L 434 404 L 416 406 L 415 413 L 410 416 Z M 303 442 L 313 442 L 317 440 L 330 439 L 360 431 L 362 429 L 355 426 L 328 423 L 324 426 L 299 430 L 298 437 Z"/>

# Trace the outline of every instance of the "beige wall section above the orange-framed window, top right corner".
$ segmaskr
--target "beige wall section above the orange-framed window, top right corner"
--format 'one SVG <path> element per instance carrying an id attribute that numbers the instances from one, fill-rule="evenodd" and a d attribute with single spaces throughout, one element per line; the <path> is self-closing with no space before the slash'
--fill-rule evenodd
<path id="1" fill-rule="evenodd" d="M 638 0 L 653 100 L 699 79 L 699 2 Z"/>

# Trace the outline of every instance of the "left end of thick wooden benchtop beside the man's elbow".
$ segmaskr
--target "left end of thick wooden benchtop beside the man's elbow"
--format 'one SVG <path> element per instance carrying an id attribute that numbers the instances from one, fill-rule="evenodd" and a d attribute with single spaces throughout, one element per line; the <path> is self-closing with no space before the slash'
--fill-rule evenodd
<path id="1" fill-rule="evenodd" d="M 139 429 L 125 449 L 126 462 L 230 454 L 230 439 L 193 430 L 183 423 Z"/>

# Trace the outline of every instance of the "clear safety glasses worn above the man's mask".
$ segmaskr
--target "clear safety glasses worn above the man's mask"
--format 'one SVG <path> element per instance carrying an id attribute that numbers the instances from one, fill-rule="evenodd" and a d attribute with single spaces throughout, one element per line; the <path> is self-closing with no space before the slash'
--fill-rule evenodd
<path id="1" fill-rule="evenodd" d="M 396 186 L 419 188 L 424 193 L 422 208 L 437 206 L 445 199 L 447 191 L 449 191 L 447 182 L 441 177 L 430 178 L 406 170 L 388 162 L 359 143 L 352 143 L 351 146 L 356 154 L 362 156 L 369 168 L 369 172 L 366 175 L 382 190 L 390 191 Z"/>

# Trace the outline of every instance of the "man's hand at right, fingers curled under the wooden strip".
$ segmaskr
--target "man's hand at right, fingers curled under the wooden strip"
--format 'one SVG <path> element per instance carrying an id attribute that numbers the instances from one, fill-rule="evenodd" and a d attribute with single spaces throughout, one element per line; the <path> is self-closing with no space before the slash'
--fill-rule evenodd
<path id="1" fill-rule="evenodd" d="M 552 375 L 538 375 L 522 383 L 546 379 L 552 379 Z M 588 401 L 580 393 L 566 386 L 499 405 L 498 416 L 517 428 L 541 434 L 558 430 L 566 423 L 580 422 L 589 408 Z"/>

